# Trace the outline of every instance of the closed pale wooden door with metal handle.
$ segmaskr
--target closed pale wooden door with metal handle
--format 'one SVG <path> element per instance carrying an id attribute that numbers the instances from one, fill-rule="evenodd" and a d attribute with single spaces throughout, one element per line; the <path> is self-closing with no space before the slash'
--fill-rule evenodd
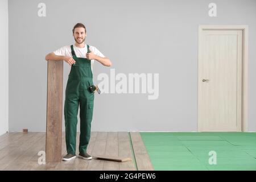
<path id="1" fill-rule="evenodd" d="M 201 30 L 199 131 L 242 130 L 242 30 Z"/>

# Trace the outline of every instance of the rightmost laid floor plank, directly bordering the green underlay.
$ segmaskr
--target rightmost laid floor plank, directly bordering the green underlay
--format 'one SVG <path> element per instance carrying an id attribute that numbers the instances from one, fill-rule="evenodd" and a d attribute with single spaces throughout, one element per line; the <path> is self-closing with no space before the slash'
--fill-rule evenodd
<path id="1" fill-rule="evenodd" d="M 144 146 L 144 143 L 142 141 L 141 134 L 139 134 L 139 132 L 130 132 L 130 135 L 138 170 L 154 170 L 150 161 L 150 157 L 147 154 L 146 147 Z"/>

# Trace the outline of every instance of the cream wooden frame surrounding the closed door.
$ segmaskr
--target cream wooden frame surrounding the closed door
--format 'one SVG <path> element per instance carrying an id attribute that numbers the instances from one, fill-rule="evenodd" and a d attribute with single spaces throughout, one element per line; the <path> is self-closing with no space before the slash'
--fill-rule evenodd
<path id="1" fill-rule="evenodd" d="M 199 25 L 198 28 L 198 52 L 197 52 L 197 131 L 200 132 L 199 121 L 199 50 L 201 50 L 201 36 L 204 30 L 242 30 L 242 110 L 241 129 L 247 131 L 248 120 L 248 26 L 247 25 Z"/>

